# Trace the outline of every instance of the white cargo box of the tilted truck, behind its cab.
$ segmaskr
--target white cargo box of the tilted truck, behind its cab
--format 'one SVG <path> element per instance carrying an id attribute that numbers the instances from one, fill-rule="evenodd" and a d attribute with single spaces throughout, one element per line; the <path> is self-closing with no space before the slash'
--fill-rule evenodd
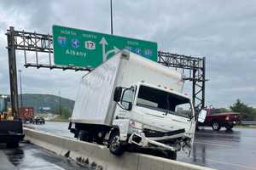
<path id="1" fill-rule="evenodd" d="M 183 91 L 182 74 L 137 54 L 120 51 L 82 77 L 71 122 L 112 125 L 114 88 L 129 88 L 137 82 Z"/>

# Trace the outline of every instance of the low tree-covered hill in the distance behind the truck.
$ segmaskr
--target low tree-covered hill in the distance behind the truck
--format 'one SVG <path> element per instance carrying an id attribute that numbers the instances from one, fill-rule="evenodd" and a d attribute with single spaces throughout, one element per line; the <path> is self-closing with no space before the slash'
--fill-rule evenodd
<path id="1" fill-rule="evenodd" d="M 72 99 L 60 98 L 51 94 L 22 94 L 22 96 L 23 106 L 32 106 L 36 112 L 40 112 L 39 110 L 42 107 L 48 107 L 53 111 L 59 108 L 59 103 L 61 103 L 61 107 L 67 107 L 69 111 L 73 111 L 74 101 Z"/>

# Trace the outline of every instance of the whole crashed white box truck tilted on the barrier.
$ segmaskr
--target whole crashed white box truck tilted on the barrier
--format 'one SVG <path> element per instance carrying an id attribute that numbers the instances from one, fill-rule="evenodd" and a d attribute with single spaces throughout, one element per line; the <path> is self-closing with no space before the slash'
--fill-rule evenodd
<path id="1" fill-rule="evenodd" d="M 182 74 L 120 51 L 82 77 L 68 128 L 83 141 L 107 141 L 114 155 L 137 146 L 175 160 L 195 134 L 195 111 L 182 91 Z"/>

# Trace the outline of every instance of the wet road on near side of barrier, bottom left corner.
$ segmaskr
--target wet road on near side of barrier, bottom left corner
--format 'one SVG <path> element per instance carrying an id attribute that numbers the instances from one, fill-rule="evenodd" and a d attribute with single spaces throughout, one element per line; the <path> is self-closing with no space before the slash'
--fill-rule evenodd
<path id="1" fill-rule="evenodd" d="M 33 144 L 21 143 L 17 149 L 0 145 L 0 170 L 82 170 L 74 161 L 43 150 Z"/>

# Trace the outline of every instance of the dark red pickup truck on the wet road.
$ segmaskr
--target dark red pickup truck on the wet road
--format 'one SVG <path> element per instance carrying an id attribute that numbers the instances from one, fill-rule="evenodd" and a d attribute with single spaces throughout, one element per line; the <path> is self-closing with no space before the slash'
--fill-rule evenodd
<path id="1" fill-rule="evenodd" d="M 237 112 L 223 112 L 219 109 L 207 109 L 207 117 L 205 122 L 199 122 L 199 126 L 209 126 L 213 130 L 218 131 L 221 127 L 227 130 L 233 128 L 241 122 L 241 114 Z"/>

